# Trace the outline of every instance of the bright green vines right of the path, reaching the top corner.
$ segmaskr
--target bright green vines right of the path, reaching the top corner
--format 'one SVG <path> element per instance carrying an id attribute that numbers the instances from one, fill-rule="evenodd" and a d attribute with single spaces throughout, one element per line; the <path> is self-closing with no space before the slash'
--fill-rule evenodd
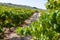
<path id="1" fill-rule="evenodd" d="M 36 22 L 32 22 L 28 27 L 17 28 L 16 33 L 21 37 L 31 36 L 33 40 L 60 40 L 59 5 L 59 0 L 48 0 L 47 10 L 40 11 L 40 18 Z"/>

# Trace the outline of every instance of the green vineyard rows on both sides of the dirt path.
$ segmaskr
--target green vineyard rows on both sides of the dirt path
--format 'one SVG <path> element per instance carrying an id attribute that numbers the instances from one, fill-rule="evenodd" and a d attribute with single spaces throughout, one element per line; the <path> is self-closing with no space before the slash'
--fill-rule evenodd
<path id="1" fill-rule="evenodd" d="M 21 27 L 31 17 L 34 9 L 0 6 L 0 38 L 4 37 L 3 28 L 16 28 L 20 37 L 31 36 L 32 40 L 60 40 L 60 0 L 47 0 L 47 10 L 39 10 L 40 17 L 29 26 Z"/>

